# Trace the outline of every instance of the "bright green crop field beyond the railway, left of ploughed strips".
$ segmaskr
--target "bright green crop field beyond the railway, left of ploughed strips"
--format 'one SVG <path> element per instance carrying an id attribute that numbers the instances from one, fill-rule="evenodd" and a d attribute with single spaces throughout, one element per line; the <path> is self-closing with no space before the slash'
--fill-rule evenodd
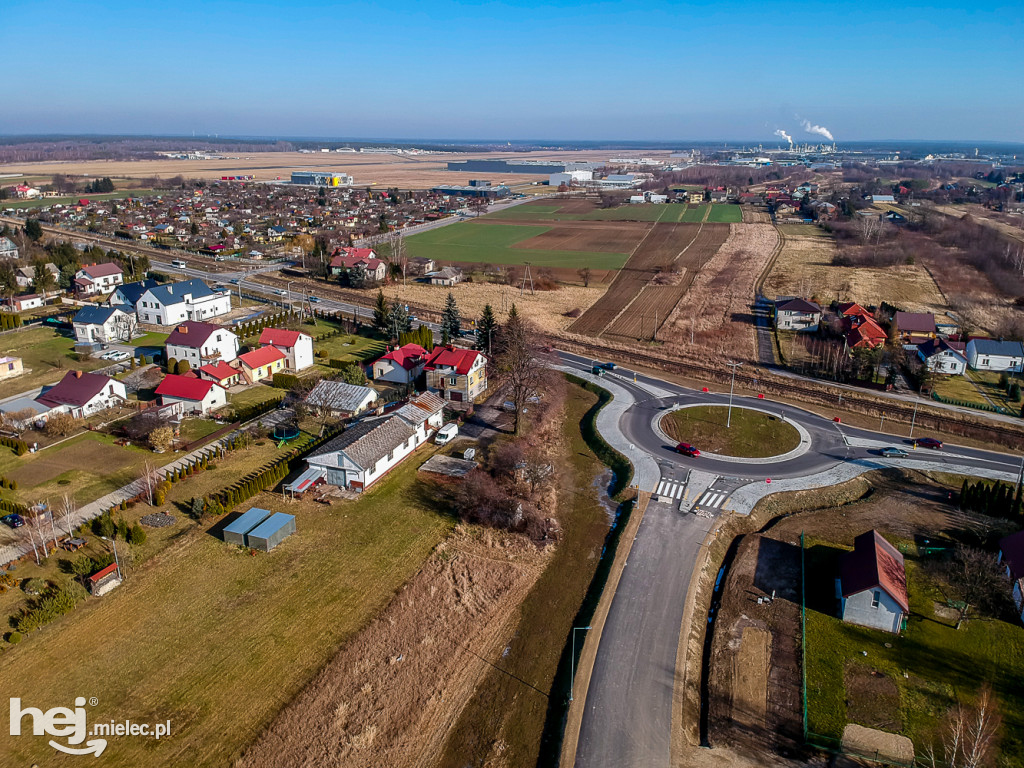
<path id="1" fill-rule="evenodd" d="M 535 266 L 618 269 L 629 258 L 625 253 L 512 248 L 513 245 L 549 229 L 547 226 L 477 224 L 462 221 L 422 234 L 414 234 L 406 239 L 406 244 L 410 256 L 466 263 L 523 264 L 528 261 Z"/>

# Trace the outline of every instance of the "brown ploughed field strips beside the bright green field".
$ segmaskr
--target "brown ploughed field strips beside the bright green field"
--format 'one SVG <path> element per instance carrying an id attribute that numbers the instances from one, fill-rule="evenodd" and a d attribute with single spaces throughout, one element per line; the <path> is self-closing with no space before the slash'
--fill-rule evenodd
<path id="1" fill-rule="evenodd" d="M 728 224 L 654 224 L 608 291 L 568 330 L 622 341 L 655 338 L 728 236 Z"/>

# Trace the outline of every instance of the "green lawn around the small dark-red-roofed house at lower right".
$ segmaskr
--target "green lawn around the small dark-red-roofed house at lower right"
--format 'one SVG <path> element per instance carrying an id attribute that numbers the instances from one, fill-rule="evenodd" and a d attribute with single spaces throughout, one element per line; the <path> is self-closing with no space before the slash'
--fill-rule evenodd
<path id="1" fill-rule="evenodd" d="M 827 545 L 807 550 L 808 584 L 823 585 L 822 595 L 830 591 L 837 555 L 838 550 Z M 889 710 L 896 714 L 896 727 L 883 729 L 908 736 L 921 754 L 943 714 L 957 699 L 972 701 L 987 682 L 993 686 L 1004 717 L 997 764 L 1024 765 L 1024 627 L 1019 622 L 977 620 L 957 631 L 954 618 L 936 613 L 942 596 L 921 565 L 915 557 L 906 556 L 910 617 L 899 636 L 844 624 L 836 617 L 834 593 L 819 606 L 834 606 L 834 611 L 809 605 L 810 730 L 835 738 L 842 735 L 847 722 L 882 727 L 882 723 L 866 721 Z M 847 690 L 845 678 L 859 671 L 885 675 L 897 693 L 888 702 L 877 696 L 862 700 L 856 691 Z"/>

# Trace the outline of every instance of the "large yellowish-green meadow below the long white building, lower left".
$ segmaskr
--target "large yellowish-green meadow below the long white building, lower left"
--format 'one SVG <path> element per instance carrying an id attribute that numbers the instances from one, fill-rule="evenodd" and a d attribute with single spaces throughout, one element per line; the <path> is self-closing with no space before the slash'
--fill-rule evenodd
<path id="1" fill-rule="evenodd" d="M 179 534 L 128 568 L 124 586 L 0 655 L 5 695 L 44 707 L 95 696 L 93 722 L 171 721 L 172 736 L 160 741 L 112 738 L 104 766 L 232 764 L 447 535 L 452 521 L 427 506 L 416 481 L 429 453 L 357 501 L 252 499 L 243 509 L 297 517 L 297 531 L 270 553 L 250 556 L 210 524 Z M 6 729 L 0 754 L 9 765 L 53 763 L 45 738 Z"/>

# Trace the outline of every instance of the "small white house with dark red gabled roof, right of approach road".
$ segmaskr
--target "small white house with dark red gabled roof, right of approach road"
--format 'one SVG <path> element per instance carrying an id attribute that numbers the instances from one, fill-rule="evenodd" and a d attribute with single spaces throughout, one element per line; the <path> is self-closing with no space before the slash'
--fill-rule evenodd
<path id="1" fill-rule="evenodd" d="M 853 541 L 843 555 L 837 591 L 844 622 L 899 634 L 910 612 L 903 555 L 877 530 Z"/>

